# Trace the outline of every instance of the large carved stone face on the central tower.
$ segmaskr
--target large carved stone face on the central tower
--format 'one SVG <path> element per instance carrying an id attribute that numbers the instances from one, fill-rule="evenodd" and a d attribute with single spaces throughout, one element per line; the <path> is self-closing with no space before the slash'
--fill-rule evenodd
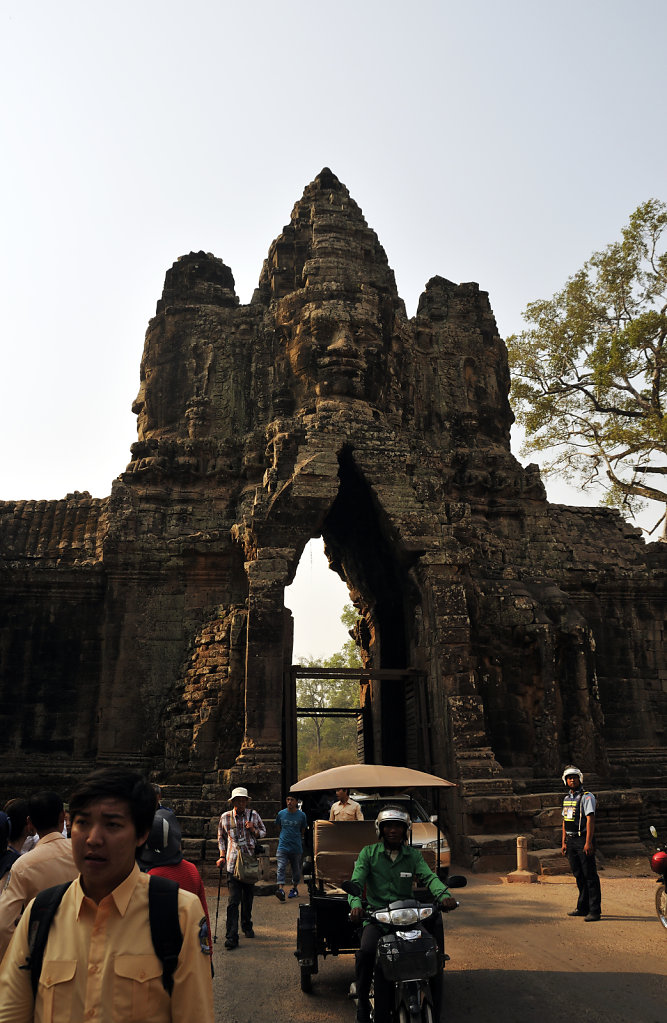
<path id="1" fill-rule="evenodd" d="M 291 325 L 285 355 L 300 398 L 377 401 L 386 346 L 371 309 L 337 300 L 308 303 Z"/>

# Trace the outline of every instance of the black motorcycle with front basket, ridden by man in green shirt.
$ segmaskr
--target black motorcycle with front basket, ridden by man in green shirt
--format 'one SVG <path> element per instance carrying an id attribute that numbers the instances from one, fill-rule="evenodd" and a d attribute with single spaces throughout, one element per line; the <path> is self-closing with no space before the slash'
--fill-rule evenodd
<path id="1" fill-rule="evenodd" d="M 447 879 L 449 888 L 464 888 L 466 884 L 468 879 L 459 875 Z M 342 887 L 348 895 L 362 895 L 361 886 L 355 881 L 346 881 Z M 435 1023 L 437 1016 L 432 983 L 444 964 L 436 939 L 425 922 L 440 911 L 436 904 L 413 898 L 391 902 L 382 909 L 364 906 L 365 919 L 382 925 L 385 931 L 377 942 L 374 979 L 370 989 L 371 1019 L 374 1023 Z M 392 992 L 389 997 L 391 1015 L 387 1021 L 377 1019 L 374 1011 L 374 990 L 381 983 L 389 985 Z M 354 983 L 350 987 L 350 997 L 357 1003 Z"/>

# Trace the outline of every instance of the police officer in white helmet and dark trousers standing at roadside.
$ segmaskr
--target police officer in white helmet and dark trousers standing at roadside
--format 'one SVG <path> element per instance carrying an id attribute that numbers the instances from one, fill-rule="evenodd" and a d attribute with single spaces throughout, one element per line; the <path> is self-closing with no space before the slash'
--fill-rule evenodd
<path id="1" fill-rule="evenodd" d="M 583 774 L 578 767 L 565 768 L 563 784 L 568 792 L 563 800 L 561 852 L 567 855 L 579 889 L 577 908 L 568 917 L 583 917 L 591 923 L 599 920 L 602 901 L 595 865 L 595 797 L 584 791 Z"/>

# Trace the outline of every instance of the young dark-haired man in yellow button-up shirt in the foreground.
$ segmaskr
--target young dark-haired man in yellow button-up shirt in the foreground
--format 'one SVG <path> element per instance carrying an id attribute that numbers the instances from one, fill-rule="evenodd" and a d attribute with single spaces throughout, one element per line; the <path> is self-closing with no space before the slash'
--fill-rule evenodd
<path id="1" fill-rule="evenodd" d="M 95 771 L 70 797 L 79 877 L 51 923 L 37 994 L 30 970 L 31 905 L 0 967 L 0 1023 L 213 1023 L 208 934 L 196 895 L 178 891 L 182 946 L 171 994 L 153 948 L 150 878 L 135 862 L 155 807 L 134 771 Z"/>

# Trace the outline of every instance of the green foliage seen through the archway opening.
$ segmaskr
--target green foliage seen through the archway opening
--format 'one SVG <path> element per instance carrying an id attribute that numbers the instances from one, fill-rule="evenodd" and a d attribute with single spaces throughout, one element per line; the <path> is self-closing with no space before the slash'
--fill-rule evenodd
<path id="1" fill-rule="evenodd" d="M 343 609 L 341 621 L 352 628 L 357 613 L 351 604 Z M 331 657 L 308 658 L 307 668 L 360 668 L 361 658 L 354 639 L 348 639 Z M 298 678 L 297 706 L 355 709 L 359 707 L 359 683 L 342 678 Z M 299 776 L 304 777 L 327 767 L 350 763 L 357 756 L 355 717 L 299 717 L 297 720 Z"/>

